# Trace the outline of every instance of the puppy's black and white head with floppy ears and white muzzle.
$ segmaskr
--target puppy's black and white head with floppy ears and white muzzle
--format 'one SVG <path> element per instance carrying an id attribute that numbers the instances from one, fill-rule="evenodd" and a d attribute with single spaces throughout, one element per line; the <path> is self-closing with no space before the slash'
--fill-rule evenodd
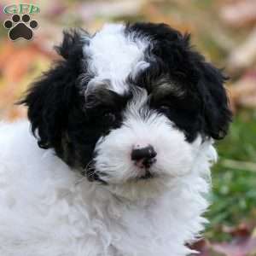
<path id="1" fill-rule="evenodd" d="M 66 32 L 62 60 L 28 91 L 32 131 L 90 181 L 125 186 L 189 173 L 224 137 L 224 76 L 164 24 Z"/>

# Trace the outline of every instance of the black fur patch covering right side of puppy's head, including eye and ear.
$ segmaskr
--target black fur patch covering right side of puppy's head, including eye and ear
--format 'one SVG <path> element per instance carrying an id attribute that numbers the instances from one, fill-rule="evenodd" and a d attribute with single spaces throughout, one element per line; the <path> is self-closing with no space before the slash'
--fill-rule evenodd
<path id="1" fill-rule="evenodd" d="M 231 120 L 224 75 L 189 44 L 189 34 L 182 35 L 166 24 L 128 24 L 126 35 L 148 38 L 145 61 L 149 67 L 139 73 L 133 84 L 143 86 L 151 94 L 152 108 L 173 121 L 184 131 L 189 142 L 197 134 L 214 139 L 223 138 Z M 161 99 L 155 88 L 164 80 Z M 170 90 L 167 89 L 169 84 Z M 160 94 L 158 92 L 158 94 Z M 178 95 L 180 94 L 180 95 Z"/>

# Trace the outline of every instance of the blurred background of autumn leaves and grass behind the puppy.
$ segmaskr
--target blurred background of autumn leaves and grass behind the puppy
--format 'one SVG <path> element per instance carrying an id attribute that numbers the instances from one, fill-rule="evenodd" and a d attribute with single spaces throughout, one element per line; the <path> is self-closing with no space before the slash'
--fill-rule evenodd
<path id="1" fill-rule="evenodd" d="M 210 222 L 194 248 L 201 256 L 256 255 L 256 0 L 102 0 L 26 1 L 40 13 L 32 41 L 12 42 L 0 1 L 0 119 L 26 117 L 14 105 L 32 80 L 58 58 L 53 46 L 61 31 L 80 26 L 95 32 L 105 22 L 165 22 L 192 34 L 192 44 L 208 61 L 223 67 L 235 114 L 230 134 L 217 143 L 219 161 L 212 170 Z"/>

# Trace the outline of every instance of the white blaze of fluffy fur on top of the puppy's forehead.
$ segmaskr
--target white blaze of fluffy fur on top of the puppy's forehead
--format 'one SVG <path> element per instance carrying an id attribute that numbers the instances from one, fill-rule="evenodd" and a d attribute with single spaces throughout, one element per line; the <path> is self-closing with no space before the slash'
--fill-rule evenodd
<path id="1" fill-rule="evenodd" d="M 137 69 L 147 67 L 143 61 L 143 50 L 148 46 L 146 39 L 125 36 L 124 25 L 108 24 L 90 38 L 90 44 L 84 46 L 84 55 L 89 57 L 88 71 L 95 81 L 108 79 L 111 89 L 124 92 L 124 81 Z"/>

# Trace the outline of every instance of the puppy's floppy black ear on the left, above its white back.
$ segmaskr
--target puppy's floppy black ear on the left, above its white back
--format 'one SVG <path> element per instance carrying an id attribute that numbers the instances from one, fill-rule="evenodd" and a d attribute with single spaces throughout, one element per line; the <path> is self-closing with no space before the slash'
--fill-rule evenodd
<path id="1" fill-rule="evenodd" d="M 32 132 L 41 148 L 61 148 L 68 114 L 78 99 L 76 81 L 81 72 L 83 44 L 81 32 L 64 32 L 62 44 L 55 48 L 63 59 L 32 84 L 20 101 L 28 107 Z"/>

